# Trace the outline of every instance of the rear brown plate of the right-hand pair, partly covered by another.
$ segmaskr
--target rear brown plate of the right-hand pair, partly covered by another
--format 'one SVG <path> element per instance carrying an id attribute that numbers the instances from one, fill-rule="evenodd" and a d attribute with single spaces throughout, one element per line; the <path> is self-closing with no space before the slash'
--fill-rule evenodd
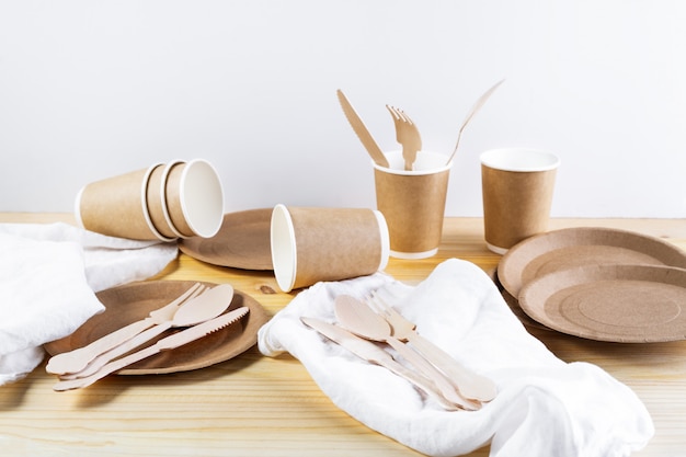
<path id="1" fill-rule="evenodd" d="M 581 227 L 549 231 L 513 247 L 498 277 L 513 297 L 530 281 L 584 265 L 637 264 L 686 269 L 686 252 L 660 238 L 629 230 Z"/>

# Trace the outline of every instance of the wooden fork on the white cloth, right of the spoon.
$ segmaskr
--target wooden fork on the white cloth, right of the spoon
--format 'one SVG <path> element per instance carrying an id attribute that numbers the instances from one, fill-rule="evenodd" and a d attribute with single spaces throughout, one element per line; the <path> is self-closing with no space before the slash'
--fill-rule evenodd
<path id="1" fill-rule="evenodd" d="M 412 344 L 412 347 L 416 349 L 424 358 L 446 375 L 462 397 L 482 402 L 495 398 L 498 389 L 491 379 L 465 368 L 450 354 L 419 334 L 416 324 L 405 319 L 378 295 L 373 294 L 368 304 L 388 321 L 393 336 Z"/>

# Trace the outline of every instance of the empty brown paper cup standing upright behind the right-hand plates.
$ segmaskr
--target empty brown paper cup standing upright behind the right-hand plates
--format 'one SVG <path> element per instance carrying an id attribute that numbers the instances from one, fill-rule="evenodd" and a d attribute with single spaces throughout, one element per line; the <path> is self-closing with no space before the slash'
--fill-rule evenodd
<path id="1" fill-rule="evenodd" d="M 557 156 L 526 148 L 481 155 L 483 228 L 488 248 L 504 254 L 519 241 L 548 230 Z"/>

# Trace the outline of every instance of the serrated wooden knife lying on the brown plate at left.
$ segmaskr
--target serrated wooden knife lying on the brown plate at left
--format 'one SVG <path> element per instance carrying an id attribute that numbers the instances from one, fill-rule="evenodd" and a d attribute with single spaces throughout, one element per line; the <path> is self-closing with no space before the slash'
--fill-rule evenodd
<path id="1" fill-rule="evenodd" d="M 60 380 L 55 386 L 53 386 L 53 389 L 56 391 L 65 391 L 90 386 L 96 380 L 102 379 L 112 373 L 118 372 L 119 369 L 128 365 L 142 361 L 144 358 L 150 357 L 151 355 L 158 354 L 161 351 L 173 350 L 174 347 L 191 343 L 209 333 L 216 332 L 217 330 L 230 325 L 243 316 L 245 316 L 248 311 L 250 311 L 250 308 L 242 306 L 227 312 L 226 315 L 221 315 L 203 323 L 198 323 L 197 325 L 190 327 L 170 336 L 165 336 L 144 350 L 134 352 L 125 357 L 110 362 L 90 376 L 77 379 Z"/>

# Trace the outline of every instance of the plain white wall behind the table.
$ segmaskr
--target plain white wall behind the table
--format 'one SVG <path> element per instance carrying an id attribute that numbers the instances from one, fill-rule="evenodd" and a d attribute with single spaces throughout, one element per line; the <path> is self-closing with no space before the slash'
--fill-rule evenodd
<path id="1" fill-rule="evenodd" d="M 70 212 L 85 183 L 202 157 L 226 210 L 375 206 L 341 88 L 449 153 L 446 214 L 481 215 L 478 156 L 562 159 L 553 216 L 686 217 L 686 2 L 0 0 L 0 212 Z"/>

